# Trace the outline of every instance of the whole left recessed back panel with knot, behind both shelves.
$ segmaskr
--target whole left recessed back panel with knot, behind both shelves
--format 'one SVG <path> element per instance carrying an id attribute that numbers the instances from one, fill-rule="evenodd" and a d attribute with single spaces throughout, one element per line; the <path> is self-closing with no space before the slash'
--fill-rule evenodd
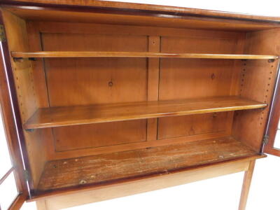
<path id="1" fill-rule="evenodd" d="M 147 36 L 41 34 L 43 50 L 147 51 Z M 147 99 L 146 58 L 45 59 L 50 106 Z M 135 94 L 137 92 L 137 94 Z M 55 151 L 146 141 L 146 120 L 53 128 Z M 109 132 L 110 131 L 110 132 Z"/>

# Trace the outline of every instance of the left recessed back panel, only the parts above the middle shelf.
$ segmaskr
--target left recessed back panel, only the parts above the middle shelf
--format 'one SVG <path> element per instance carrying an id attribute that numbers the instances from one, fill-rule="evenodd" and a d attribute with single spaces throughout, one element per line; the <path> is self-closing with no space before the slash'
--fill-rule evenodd
<path id="1" fill-rule="evenodd" d="M 46 51 L 147 51 L 146 36 L 42 34 Z M 147 99 L 145 58 L 45 59 L 50 106 Z M 137 94 L 135 94 L 137 92 Z M 71 94 L 69 94 L 71 93 Z"/>

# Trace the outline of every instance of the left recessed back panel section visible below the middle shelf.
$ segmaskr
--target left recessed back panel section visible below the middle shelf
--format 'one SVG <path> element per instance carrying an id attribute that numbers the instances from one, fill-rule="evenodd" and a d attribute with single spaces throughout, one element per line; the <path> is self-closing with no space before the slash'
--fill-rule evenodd
<path id="1" fill-rule="evenodd" d="M 71 127 L 55 127 L 55 151 L 73 151 L 83 148 L 105 148 L 146 141 L 146 120 L 134 120 L 75 125 Z M 71 141 L 69 141 L 71 137 Z M 68 140 L 68 141 L 67 141 Z"/>

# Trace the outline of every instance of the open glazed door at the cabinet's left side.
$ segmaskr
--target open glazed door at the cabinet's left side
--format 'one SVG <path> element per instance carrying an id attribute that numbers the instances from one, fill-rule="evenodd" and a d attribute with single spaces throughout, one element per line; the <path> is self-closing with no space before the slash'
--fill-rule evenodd
<path id="1" fill-rule="evenodd" d="M 1 13 L 0 13 L 1 14 Z M 20 209 L 28 194 L 10 58 L 0 15 L 0 209 Z"/>

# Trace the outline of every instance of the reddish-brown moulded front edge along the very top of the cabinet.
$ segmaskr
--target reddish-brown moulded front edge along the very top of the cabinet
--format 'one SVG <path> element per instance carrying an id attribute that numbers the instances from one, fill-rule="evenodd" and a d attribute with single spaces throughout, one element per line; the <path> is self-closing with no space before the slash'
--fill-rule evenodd
<path id="1" fill-rule="evenodd" d="M 82 4 L 82 5 L 81 5 Z M 143 3 L 124 3 L 112 1 L 26 1 L 3 0 L 1 6 L 9 8 L 28 8 L 35 10 L 62 10 L 94 13 L 110 13 L 122 15 L 145 15 L 158 18 L 214 18 L 225 20 L 244 20 L 253 22 L 280 23 L 278 17 L 266 17 L 260 15 L 246 15 L 216 10 L 202 10 L 196 8 L 183 8 L 175 6 L 159 6 Z"/>

